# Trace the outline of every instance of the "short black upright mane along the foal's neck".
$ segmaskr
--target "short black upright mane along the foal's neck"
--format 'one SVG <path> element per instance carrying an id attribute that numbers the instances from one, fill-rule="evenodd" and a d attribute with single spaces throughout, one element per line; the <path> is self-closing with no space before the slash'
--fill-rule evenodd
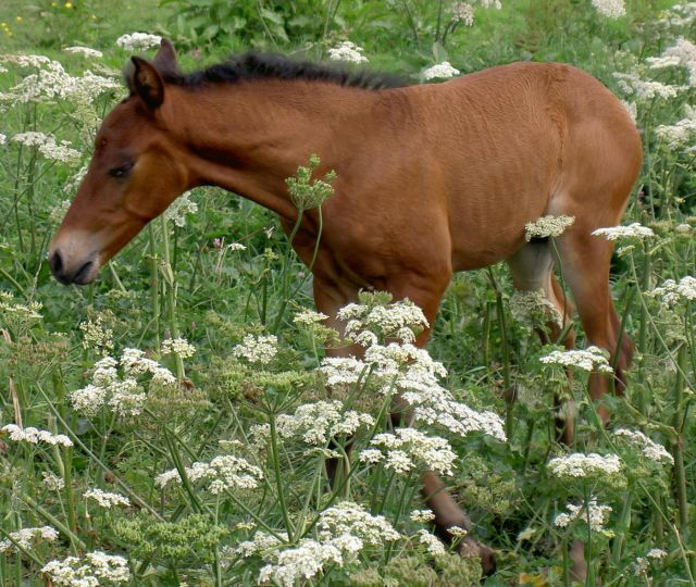
<path id="1" fill-rule="evenodd" d="M 369 70 L 348 70 L 340 64 L 295 61 L 276 53 L 248 52 L 229 58 L 223 63 L 210 65 L 189 74 L 162 72 L 164 80 L 177 86 L 200 87 L 207 84 L 235 84 L 249 79 L 304 79 L 323 82 L 351 88 L 385 89 L 408 85 L 390 74 Z"/>

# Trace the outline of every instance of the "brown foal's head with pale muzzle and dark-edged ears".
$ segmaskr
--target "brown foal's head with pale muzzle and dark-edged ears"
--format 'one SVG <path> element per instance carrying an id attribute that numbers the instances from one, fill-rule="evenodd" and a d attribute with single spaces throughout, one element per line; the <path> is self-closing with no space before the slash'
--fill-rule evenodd
<path id="1" fill-rule="evenodd" d="M 173 46 L 154 61 L 133 58 L 130 93 L 104 118 L 85 179 L 49 249 L 53 275 L 88 284 L 142 227 L 190 187 L 183 146 L 169 130 L 172 104 L 162 73 L 176 73 Z"/>

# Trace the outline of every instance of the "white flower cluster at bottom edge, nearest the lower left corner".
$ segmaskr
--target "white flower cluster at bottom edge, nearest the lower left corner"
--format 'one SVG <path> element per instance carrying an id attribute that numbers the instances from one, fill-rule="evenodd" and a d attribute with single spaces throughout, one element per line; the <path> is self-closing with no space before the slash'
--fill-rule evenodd
<path id="1" fill-rule="evenodd" d="M 126 559 L 99 550 L 88 552 L 84 559 L 67 557 L 62 561 L 51 561 L 41 569 L 41 573 L 46 573 L 53 585 L 65 587 L 97 587 L 104 582 L 121 585 L 130 580 Z"/>

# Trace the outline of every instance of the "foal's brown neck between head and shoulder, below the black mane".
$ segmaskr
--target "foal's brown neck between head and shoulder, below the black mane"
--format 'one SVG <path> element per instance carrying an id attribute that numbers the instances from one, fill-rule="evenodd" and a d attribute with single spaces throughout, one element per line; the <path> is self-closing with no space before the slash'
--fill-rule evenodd
<path id="1" fill-rule="evenodd" d="M 263 80 L 178 89 L 176 124 L 200 184 L 234 191 L 284 218 L 297 210 L 285 178 L 318 154 L 332 168 L 346 148 L 346 128 L 358 138 L 375 92 L 328 84 Z"/>

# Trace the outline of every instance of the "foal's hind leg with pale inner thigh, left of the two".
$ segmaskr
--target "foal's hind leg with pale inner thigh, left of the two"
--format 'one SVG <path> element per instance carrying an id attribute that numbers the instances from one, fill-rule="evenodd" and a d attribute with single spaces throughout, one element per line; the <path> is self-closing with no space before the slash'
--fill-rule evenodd
<path id="1" fill-rule="evenodd" d="M 507 260 L 507 263 L 518 292 L 524 295 L 542 291 L 546 300 L 552 304 L 556 315 L 550 316 L 546 327 L 538 328 L 537 334 L 544 344 L 556 342 L 571 323 L 573 307 L 554 275 L 554 258 L 548 240 L 535 240 L 524 245 Z M 575 335 L 572 328 L 567 332 L 562 342 L 569 349 L 573 347 Z M 568 375 L 572 376 L 570 373 Z M 556 394 L 554 408 L 557 411 L 558 437 L 570 445 L 574 436 L 573 401 L 561 400 L 560 394 Z"/>

